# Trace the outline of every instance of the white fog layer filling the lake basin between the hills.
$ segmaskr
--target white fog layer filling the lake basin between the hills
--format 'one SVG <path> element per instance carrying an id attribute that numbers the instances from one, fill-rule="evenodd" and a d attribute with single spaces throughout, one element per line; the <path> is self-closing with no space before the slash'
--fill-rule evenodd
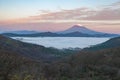
<path id="1" fill-rule="evenodd" d="M 109 38 L 96 37 L 12 37 L 27 43 L 43 45 L 45 47 L 62 48 L 85 48 L 91 45 L 103 43 Z"/>

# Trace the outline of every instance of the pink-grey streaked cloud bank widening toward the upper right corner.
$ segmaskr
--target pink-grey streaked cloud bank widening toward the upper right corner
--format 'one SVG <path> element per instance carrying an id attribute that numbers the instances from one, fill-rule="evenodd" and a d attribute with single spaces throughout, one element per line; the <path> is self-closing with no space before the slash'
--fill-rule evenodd
<path id="1" fill-rule="evenodd" d="M 31 16 L 29 21 L 57 21 L 57 20 L 120 20 L 120 1 L 101 8 L 77 8 L 73 10 L 61 9 L 57 12 L 42 11 L 44 14 Z"/>

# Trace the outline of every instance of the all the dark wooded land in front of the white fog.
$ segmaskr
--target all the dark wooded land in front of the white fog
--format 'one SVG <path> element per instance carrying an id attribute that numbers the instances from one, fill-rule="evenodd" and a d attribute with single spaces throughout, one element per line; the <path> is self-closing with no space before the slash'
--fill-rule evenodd
<path id="1" fill-rule="evenodd" d="M 120 80 L 120 37 L 103 44 L 114 46 L 60 51 L 0 36 L 0 80 Z"/>

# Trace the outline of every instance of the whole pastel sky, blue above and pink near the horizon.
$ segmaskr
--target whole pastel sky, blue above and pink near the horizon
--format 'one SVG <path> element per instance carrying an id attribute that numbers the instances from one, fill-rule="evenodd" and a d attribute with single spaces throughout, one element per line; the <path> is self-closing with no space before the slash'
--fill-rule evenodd
<path id="1" fill-rule="evenodd" d="M 75 24 L 120 34 L 120 0 L 0 0 L 0 31 L 61 31 Z"/>

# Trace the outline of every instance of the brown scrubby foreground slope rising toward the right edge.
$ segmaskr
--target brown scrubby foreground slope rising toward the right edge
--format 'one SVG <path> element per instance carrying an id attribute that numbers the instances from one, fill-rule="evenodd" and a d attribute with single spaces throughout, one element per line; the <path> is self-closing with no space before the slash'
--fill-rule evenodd
<path id="1" fill-rule="evenodd" d="M 46 76 L 65 80 L 120 80 L 120 47 L 80 52 L 47 68 Z"/>

